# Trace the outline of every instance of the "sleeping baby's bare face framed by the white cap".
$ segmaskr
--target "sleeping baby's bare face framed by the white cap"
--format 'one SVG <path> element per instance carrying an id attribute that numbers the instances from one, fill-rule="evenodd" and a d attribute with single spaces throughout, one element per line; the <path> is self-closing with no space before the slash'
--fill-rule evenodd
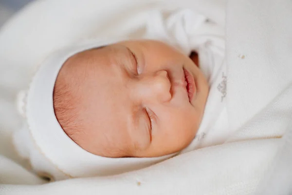
<path id="1" fill-rule="evenodd" d="M 208 91 L 200 69 L 175 48 L 123 41 L 68 59 L 54 107 L 67 135 L 95 155 L 164 156 L 195 137 Z"/>

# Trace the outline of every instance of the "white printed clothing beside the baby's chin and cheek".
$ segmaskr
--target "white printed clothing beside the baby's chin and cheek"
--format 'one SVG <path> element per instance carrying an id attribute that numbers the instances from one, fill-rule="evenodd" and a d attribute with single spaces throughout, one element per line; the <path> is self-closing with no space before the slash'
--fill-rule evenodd
<path id="1" fill-rule="evenodd" d="M 182 153 L 224 143 L 231 135 L 226 111 L 227 70 L 224 46 L 212 47 L 212 40 L 199 48 L 200 67 L 210 86 L 203 119 L 195 139 Z"/>

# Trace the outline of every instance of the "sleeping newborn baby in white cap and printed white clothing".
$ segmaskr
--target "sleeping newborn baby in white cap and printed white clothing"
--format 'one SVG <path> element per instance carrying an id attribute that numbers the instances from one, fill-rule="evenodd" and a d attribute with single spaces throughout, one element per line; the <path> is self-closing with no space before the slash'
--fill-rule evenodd
<path id="1" fill-rule="evenodd" d="M 18 98 L 26 123 L 16 149 L 39 176 L 59 180 L 120 174 L 222 143 L 218 51 L 207 41 L 190 55 L 151 39 L 56 51 Z"/>

